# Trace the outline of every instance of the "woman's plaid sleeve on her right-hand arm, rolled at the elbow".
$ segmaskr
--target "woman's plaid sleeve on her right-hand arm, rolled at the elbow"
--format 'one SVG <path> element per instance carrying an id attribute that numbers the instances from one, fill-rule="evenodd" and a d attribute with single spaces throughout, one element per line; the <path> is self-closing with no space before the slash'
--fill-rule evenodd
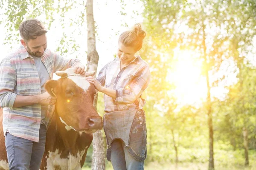
<path id="1" fill-rule="evenodd" d="M 145 91 L 150 82 L 149 66 L 141 68 L 131 79 L 129 85 L 116 89 L 116 103 L 133 103 Z"/>

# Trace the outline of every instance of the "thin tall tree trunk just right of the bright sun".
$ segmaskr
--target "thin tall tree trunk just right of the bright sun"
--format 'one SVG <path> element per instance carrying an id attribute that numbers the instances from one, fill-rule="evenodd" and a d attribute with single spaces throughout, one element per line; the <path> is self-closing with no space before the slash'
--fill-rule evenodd
<path id="1" fill-rule="evenodd" d="M 205 44 L 205 25 L 202 24 L 203 31 L 203 47 L 204 47 L 204 64 L 207 65 L 207 53 Z M 209 69 L 209 68 L 208 68 Z M 207 114 L 208 114 L 208 127 L 209 127 L 209 167 L 208 170 L 214 170 L 214 153 L 213 153 L 213 128 L 212 128 L 212 102 L 211 102 L 211 87 L 209 83 L 209 72 L 205 71 L 207 81 Z"/>

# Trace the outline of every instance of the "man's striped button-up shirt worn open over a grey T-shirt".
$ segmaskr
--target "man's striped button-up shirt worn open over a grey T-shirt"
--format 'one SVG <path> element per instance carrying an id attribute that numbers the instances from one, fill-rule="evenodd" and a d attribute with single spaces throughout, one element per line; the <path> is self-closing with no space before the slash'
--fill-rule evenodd
<path id="1" fill-rule="evenodd" d="M 73 66 L 78 59 L 66 59 L 47 49 L 41 57 L 50 78 L 53 73 Z M 41 94 L 40 79 L 33 57 L 23 45 L 0 63 L 0 106 L 3 108 L 3 131 L 34 142 L 39 140 L 41 104 L 13 108 L 17 95 Z M 46 113 L 46 126 L 52 106 Z"/>

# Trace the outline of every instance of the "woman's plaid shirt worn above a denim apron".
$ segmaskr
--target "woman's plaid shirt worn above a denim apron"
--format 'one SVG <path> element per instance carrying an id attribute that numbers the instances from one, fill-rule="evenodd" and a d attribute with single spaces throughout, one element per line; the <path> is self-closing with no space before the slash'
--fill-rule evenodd
<path id="1" fill-rule="evenodd" d="M 120 70 L 120 60 L 116 57 L 99 72 L 96 80 L 104 87 L 116 90 L 116 99 L 104 95 L 105 112 L 120 111 L 126 108 L 140 108 L 145 105 L 141 98 L 150 82 L 148 64 L 140 57 Z"/>

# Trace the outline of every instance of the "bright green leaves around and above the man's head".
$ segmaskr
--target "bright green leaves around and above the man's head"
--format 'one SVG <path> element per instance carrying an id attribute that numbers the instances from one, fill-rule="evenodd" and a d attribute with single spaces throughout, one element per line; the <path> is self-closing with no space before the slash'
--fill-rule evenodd
<path id="1" fill-rule="evenodd" d="M 73 54 L 80 50 L 76 37 L 84 33 L 79 27 L 85 27 L 84 13 L 86 2 L 73 1 L 73 0 L 15 0 L 15 1 L 2 1 L 0 9 L 3 11 L 2 23 L 5 24 L 6 40 L 4 44 L 15 46 L 19 42 L 19 26 L 23 20 L 37 18 L 41 20 L 48 30 L 55 29 L 52 23 L 60 23 L 61 28 L 73 28 L 73 31 L 62 31 L 63 36 L 60 38 L 57 51 L 66 56 Z M 82 8 L 81 8 L 82 6 Z M 69 13 L 78 9 L 78 17 L 73 19 Z M 80 14 L 79 14 L 80 13 Z M 59 28 L 59 26 L 58 26 Z M 86 33 L 86 32 L 85 32 Z M 58 44 L 58 43 L 57 43 Z M 85 53 L 85 51 L 83 52 Z"/>

